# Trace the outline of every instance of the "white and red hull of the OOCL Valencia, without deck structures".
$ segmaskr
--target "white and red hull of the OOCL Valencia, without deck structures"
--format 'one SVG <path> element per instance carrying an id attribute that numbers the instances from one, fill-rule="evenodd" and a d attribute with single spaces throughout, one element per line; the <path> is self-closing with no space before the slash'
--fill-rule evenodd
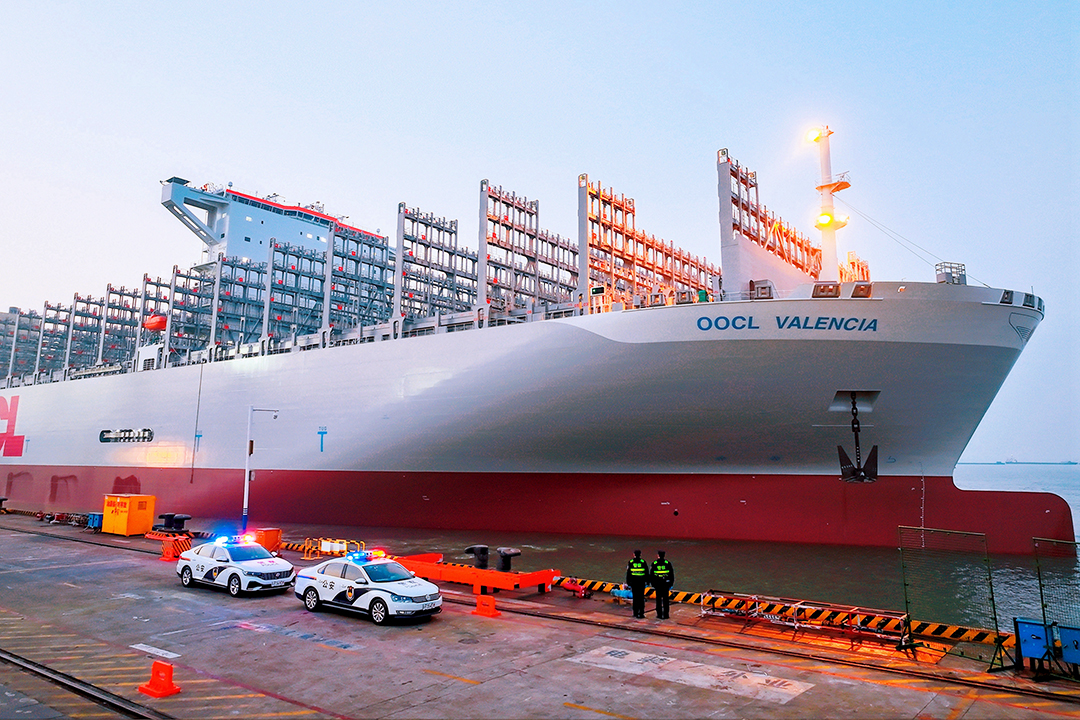
<path id="1" fill-rule="evenodd" d="M 12 386 L 0 478 L 23 510 L 143 492 L 239 518 L 252 440 L 256 521 L 879 546 L 922 526 L 1030 552 L 1072 539 L 1063 500 L 950 479 L 1041 320 L 1000 297 L 876 283 Z M 852 392 L 876 483 L 838 479 Z"/>

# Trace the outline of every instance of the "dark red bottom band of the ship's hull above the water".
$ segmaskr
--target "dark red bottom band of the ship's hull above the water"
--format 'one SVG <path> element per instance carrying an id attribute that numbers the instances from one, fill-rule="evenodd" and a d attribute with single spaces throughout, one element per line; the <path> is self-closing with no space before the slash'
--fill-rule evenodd
<path id="1" fill-rule="evenodd" d="M 99 512 L 145 493 L 158 512 L 240 518 L 243 471 L 6 466 L 8 507 Z M 257 471 L 253 524 L 498 530 L 895 547 L 899 526 L 986 534 L 991 553 L 1074 540 L 1044 492 L 959 490 L 950 477 Z"/>

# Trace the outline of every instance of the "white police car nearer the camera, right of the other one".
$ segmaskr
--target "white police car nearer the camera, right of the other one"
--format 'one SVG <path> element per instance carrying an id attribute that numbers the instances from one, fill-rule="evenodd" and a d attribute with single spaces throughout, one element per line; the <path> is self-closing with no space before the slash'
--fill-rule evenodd
<path id="1" fill-rule="evenodd" d="M 376 625 L 391 617 L 423 617 L 441 612 L 438 586 L 415 576 L 382 551 L 360 551 L 302 568 L 296 597 L 314 612 L 322 604 L 354 610 Z"/>

